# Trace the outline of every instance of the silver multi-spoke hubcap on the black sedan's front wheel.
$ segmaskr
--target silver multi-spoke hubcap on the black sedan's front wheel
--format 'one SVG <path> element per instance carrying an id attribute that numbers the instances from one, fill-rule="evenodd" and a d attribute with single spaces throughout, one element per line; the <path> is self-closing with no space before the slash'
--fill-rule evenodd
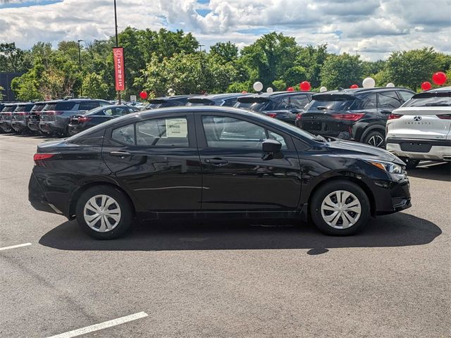
<path id="1" fill-rule="evenodd" d="M 326 196 L 321 204 L 324 222 L 335 229 L 352 227 L 362 214 L 362 206 L 357 197 L 345 190 L 338 190 Z"/>

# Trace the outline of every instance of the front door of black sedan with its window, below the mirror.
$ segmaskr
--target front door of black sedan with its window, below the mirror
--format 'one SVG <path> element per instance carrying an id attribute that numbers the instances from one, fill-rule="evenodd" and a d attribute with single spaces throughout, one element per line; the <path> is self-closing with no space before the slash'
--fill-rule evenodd
<path id="1" fill-rule="evenodd" d="M 289 135 L 230 113 L 196 113 L 202 166 L 202 210 L 283 211 L 299 203 L 299 158 Z M 262 142 L 282 144 L 264 159 Z"/>

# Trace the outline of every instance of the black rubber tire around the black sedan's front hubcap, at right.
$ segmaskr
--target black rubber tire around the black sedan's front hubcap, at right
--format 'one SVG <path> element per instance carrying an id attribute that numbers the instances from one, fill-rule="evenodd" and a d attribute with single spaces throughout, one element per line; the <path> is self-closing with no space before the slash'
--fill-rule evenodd
<path id="1" fill-rule="evenodd" d="M 342 223 L 342 225 L 344 224 L 341 215 L 338 216 L 338 221 L 336 221 L 337 224 L 335 226 L 337 227 L 329 225 L 328 223 L 326 223 L 326 220 L 323 219 L 321 211 L 321 205 L 323 204 L 323 201 L 326 199 L 327 196 L 329 196 L 329 194 L 333 194 L 333 192 L 338 191 L 350 192 L 351 194 L 354 195 L 354 197 L 358 199 L 360 203 L 361 212 L 359 218 L 357 218 L 357 222 L 354 223 L 353 225 L 350 225 L 350 227 L 337 228 L 340 227 L 340 223 Z M 354 199 L 352 196 L 350 196 L 349 198 L 351 199 L 351 201 L 352 199 Z M 366 196 L 366 193 L 357 184 L 346 180 L 330 181 L 324 184 L 322 187 L 320 187 L 315 192 L 314 196 L 311 199 L 309 211 L 311 220 L 313 220 L 314 225 L 316 225 L 316 227 L 318 227 L 319 230 L 321 230 L 321 232 L 333 236 L 347 236 L 356 233 L 369 222 L 369 218 L 371 216 L 371 206 L 369 198 L 368 196 Z M 330 213 L 330 215 L 333 213 L 333 211 L 323 211 L 323 212 Z M 350 211 L 350 213 L 352 215 L 357 215 L 352 211 Z"/>

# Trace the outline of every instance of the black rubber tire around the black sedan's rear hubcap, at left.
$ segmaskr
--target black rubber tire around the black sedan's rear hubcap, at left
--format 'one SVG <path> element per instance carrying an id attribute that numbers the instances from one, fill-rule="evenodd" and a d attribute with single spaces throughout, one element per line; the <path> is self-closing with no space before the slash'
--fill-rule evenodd
<path id="1" fill-rule="evenodd" d="M 121 212 L 117 225 L 113 227 L 112 230 L 106 232 L 99 232 L 100 230 L 92 229 L 92 227 L 87 224 L 84 216 L 85 206 L 88 201 L 98 195 L 109 196 L 115 201 L 115 204 L 113 204 L 112 207 L 116 208 L 117 204 Z M 92 211 L 88 212 L 92 213 Z M 77 216 L 78 225 L 80 225 L 81 229 L 95 239 L 115 239 L 121 237 L 130 229 L 134 218 L 132 204 L 130 203 L 128 196 L 125 196 L 119 189 L 108 185 L 97 185 L 83 192 L 75 206 L 75 215 Z M 110 220 L 113 219 L 111 218 Z M 98 220 L 96 225 L 99 225 L 99 227 L 101 226 L 101 219 Z"/>

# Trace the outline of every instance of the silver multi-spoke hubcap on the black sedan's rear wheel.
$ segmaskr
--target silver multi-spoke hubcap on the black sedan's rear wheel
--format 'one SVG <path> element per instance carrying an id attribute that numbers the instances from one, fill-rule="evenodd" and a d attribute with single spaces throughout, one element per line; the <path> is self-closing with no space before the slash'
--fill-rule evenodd
<path id="1" fill-rule="evenodd" d="M 121 207 L 110 196 L 96 195 L 86 202 L 83 216 L 92 230 L 109 232 L 121 220 Z"/>

